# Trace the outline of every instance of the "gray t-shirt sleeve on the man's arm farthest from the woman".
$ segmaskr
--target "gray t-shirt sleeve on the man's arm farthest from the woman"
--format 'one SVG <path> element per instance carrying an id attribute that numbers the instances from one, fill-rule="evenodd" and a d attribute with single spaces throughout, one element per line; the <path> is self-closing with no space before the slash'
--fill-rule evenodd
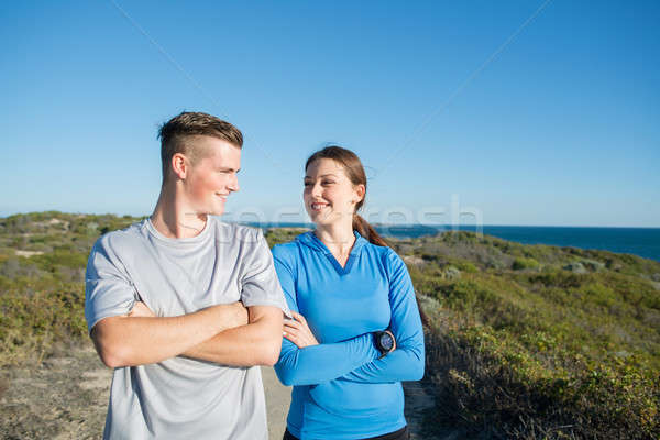
<path id="1" fill-rule="evenodd" d="M 135 288 L 108 237 L 100 238 L 87 261 L 85 276 L 85 319 L 87 330 L 101 319 L 127 315 L 135 304 Z"/>

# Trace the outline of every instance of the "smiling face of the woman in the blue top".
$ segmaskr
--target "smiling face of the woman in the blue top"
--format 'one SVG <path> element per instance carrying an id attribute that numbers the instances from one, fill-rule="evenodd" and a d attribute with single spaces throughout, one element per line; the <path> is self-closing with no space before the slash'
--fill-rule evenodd
<path id="1" fill-rule="evenodd" d="M 331 158 L 320 158 L 309 164 L 305 173 L 305 209 L 316 224 L 352 223 L 364 189 L 364 185 L 351 183 L 343 166 Z"/>

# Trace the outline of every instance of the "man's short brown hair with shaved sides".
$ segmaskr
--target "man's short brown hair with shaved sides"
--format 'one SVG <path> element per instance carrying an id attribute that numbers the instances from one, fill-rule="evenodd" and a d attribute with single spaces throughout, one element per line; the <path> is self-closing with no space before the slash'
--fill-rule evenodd
<path id="1" fill-rule="evenodd" d="M 161 125 L 161 161 L 163 163 L 163 183 L 167 180 L 172 157 L 176 153 L 186 155 L 195 165 L 205 157 L 206 152 L 187 142 L 190 136 L 213 136 L 229 142 L 238 148 L 243 146 L 243 134 L 234 125 L 208 113 L 184 111 Z"/>

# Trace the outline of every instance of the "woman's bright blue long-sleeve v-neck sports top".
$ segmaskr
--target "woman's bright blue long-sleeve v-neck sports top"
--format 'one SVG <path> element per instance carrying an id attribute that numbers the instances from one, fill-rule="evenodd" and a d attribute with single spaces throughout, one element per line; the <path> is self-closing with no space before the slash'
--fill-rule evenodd
<path id="1" fill-rule="evenodd" d="M 342 267 L 312 233 L 273 248 L 289 308 L 319 341 L 283 340 L 277 376 L 294 385 L 288 430 L 299 439 L 364 439 L 406 425 L 400 381 L 424 375 L 424 331 L 406 265 L 355 232 Z M 392 330 L 396 350 L 380 359 L 371 332 Z"/>

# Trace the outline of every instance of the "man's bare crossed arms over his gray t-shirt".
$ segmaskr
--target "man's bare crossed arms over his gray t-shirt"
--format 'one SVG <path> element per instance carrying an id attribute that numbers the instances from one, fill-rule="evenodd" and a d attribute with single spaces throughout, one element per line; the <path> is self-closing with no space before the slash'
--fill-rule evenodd
<path id="1" fill-rule="evenodd" d="M 99 321 L 91 338 L 109 367 L 134 366 L 177 355 L 223 365 L 274 365 L 282 346 L 283 312 L 239 302 L 178 317 L 155 317 L 142 302 L 128 316 Z"/>

